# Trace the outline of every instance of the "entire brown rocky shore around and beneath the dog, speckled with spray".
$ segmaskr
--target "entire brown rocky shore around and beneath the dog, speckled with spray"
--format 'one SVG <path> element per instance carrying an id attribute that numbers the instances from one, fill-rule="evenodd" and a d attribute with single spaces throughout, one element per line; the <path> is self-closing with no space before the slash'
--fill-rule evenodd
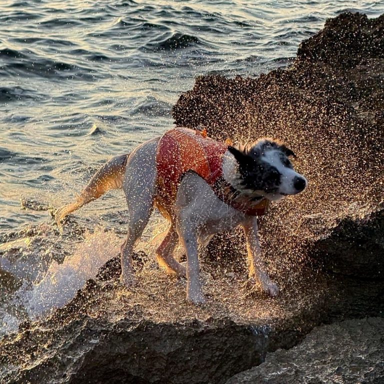
<path id="1" fill-rule="evenodd" d="M 125 290 L 115 259 L 69 304 L 0 341 L 1 380 L 382 382 L 383 110 L 384 15 L 328 20 L 286 69 L 197 78 L 173 108 L 177 125 L 203 125 L 235 142 L 284 140 L 309 180 L 305 193 L 272 204 L 261 220 L 280 295 L 244 284 L 240 233 L 230 235 L 236 241 L 216 236 L 202 256 L 208 300 L 199 307 L 185 302 L 184 280 L 144 254 L 136 285 Z M 311 331 L 322 323 L 330 325 Z M 353 368 L 359 349 L 364 361 Z"/>

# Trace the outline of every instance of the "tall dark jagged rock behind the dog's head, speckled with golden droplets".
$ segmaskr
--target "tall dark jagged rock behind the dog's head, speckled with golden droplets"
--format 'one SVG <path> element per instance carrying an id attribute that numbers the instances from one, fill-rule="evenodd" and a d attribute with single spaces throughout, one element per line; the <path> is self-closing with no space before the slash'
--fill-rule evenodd
<path id="1" fill-rule="evenodd" d="M 301 43 L 291 67 L 198 77 L 173 108 L 177 125 L 235 142 L 276 137 L 297 154 L 308 187 L 272 204 L 260 230 L 277 275 L 311 261 L 383 280 L 383 41 L 384 15 L 343 13 Z"/>

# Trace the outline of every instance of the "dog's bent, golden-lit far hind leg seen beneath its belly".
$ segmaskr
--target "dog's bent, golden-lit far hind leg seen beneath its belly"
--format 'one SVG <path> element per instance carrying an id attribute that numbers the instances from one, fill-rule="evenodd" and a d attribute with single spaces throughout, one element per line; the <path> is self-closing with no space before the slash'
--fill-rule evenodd
<path id="1" fill-rule="evenodd" d="M 177 262 L 172 255 L 177 242 L 178 235 L 176 227 L 172 222 L 167 234 L 156 249 L 156 259 L 158 264 L 164 267 L 167 273 L 175 273 L 178 276 L 185 276 L 185 267 Z"/>

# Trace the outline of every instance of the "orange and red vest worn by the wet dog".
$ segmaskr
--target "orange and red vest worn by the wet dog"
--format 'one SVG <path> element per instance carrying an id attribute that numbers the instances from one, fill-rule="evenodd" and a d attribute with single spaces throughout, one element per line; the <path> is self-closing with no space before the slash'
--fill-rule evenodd
<path id="1" fill-rule="evenodd" d="M 263 215 L 269 200 L 256 202 L 239 197 L 236 189 L 222 176 L 222 158 L 227 149 L 223 142 L 215 141 L 202 131 L 189 128 L 173 128 L 166 131 L 157 146 L 157 196 L 158 207 L 172 207 L 176 201 L 178 186 L 184 174 L 193 171 L 202 177 L 218 198 L 248 215 Z"/>

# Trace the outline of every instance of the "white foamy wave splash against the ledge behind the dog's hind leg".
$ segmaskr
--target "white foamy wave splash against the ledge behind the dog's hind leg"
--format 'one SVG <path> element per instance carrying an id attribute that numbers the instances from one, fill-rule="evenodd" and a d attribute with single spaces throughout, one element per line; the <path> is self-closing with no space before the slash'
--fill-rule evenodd
<path id="1" fill-rule="evenodd" d="M 13 303 L 24 309 L 31 320 L 65 305 L 100 266 L 118 253 L 120 243 L 113 232 L 100 227 L 85 233 L 73 254 L 61 264 L 53 260 L 40 281 L 30 284 L 24 280 L 14 293 Z M 0 319 L 0 334 L 17 330 L 19 319 L 13 314 L 3 311 Z"/>

